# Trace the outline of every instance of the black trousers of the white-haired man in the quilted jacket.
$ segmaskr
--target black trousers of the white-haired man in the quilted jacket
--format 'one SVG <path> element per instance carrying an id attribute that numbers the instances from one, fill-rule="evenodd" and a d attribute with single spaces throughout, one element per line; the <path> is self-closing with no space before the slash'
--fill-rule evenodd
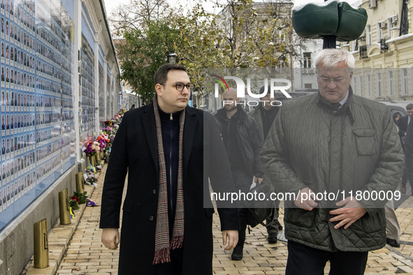
<path id="1" fill-rule="evenodd" d="M 288 241 L 286 275 L 323 275 L 330 261 L 330 275 L 362 275 L 368 252 L 329 252 L 311 248 L 296 241 Z"/>

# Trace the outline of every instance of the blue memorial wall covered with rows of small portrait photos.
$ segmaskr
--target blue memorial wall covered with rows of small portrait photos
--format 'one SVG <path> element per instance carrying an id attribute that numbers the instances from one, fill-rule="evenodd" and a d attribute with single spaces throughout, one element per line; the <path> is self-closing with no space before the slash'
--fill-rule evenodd
<path id="1" fill-rule="evenodd" d="M 119 111 L 119 68 L 101 2 L 0 3 L 2 230 Z"/>

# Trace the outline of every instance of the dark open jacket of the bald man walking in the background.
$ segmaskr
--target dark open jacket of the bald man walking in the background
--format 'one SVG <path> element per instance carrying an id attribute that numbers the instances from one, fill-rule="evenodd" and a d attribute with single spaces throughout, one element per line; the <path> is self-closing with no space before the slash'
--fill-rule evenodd
<path id="1" fill-rule="evenodd" d="M 263 138 L 259 134 L 256 122 L 252 117 L 238 107 L 237 115 L 237 132 L 238 145 L 240 147 L 240 154 L 245 165 L 245 169 L 255 177 L 263 177 L 263 168 L 259 161 L 258 155 L 261 151 Z M 229 119 L 226 117 L 225 108 L 219 109 L 215 117 L 219 124 L 219 133 L 223 133 L 229 128 Z"/>

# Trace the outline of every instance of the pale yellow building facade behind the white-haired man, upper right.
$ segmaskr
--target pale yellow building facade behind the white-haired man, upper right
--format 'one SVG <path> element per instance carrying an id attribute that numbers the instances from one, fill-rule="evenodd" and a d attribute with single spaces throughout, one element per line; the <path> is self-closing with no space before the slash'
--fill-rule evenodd
<path id="1" fill-rule="evenodd" d="M 358 40 L 340 43 L 356 58 L 354 93 L 375 100 L 413 100 L 413 2 L 370 0 L 358 3 L 368 13 Z"/>

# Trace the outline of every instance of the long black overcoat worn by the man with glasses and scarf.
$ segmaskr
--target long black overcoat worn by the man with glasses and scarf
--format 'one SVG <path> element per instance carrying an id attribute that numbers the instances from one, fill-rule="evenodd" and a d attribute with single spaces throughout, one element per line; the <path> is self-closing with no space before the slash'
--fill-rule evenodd
<path id="1" fill-rule="evenodd" d="M 150 104 L 124 114 L 113 141 L 103 185 L 100 227 L 119 228 L 124 179 L 129 172 L 119 274 L 154 274 L 159 162 L 153 109 Z M 186 107 L 183 161 L 183 274 L 212 274 L 214 209 L 209 197 L 208 175 L 214 191 L 233 192 L 234 188 L 214 117 L 192 107 Z M 210 208 L 203 207 L 204 200 Z M 239 229 L 237 209 L 218 211 L 222 230 Z"/>

